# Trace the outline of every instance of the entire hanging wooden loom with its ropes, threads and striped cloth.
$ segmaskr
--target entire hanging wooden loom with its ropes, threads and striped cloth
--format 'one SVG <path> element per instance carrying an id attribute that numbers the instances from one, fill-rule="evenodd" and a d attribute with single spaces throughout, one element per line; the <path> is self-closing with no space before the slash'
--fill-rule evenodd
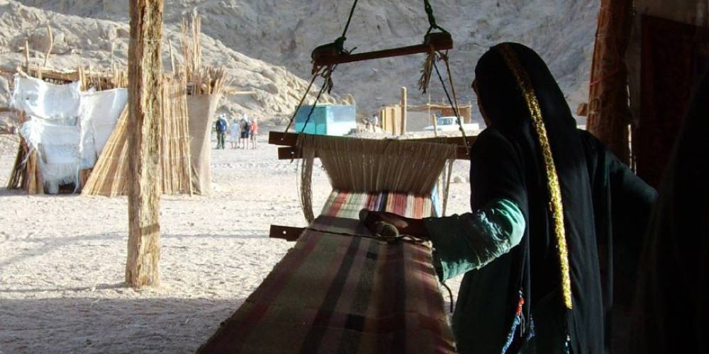
<path id="1" fill-rule="evenodd" d="M 435 60 L 447 65 L 447 55 L 437 51 L 452 48 L 452 39 L 424 4 L 430 28 L 423 45 L 352 55 L 343 43 L 355 0 L 342 36 L 313 50 L 313 79 L 298 108 L 316 77 L 325 79 L 317 103 L 332 88 L 337 64 L 380 57 L 428 53 L 420 80 L 425 91 L 432 69 L 440 78 Z M 457 103 L 451 106 L 458 116 Z M 198 353 L 455 353 L 428 243 L 373 234 L 359 222 L 359 211 L 439 216 L 432 193 L 443 181 L 445 214 L 453 161 L 469 158 L 471 139 L 462 126 L 457 138 L 375 140 L 291 134 L 293 121 L 286 132 L 271 132 L 269 143 L 284 146 L 279 159 L 302 159 L 299 195 L 309 226 L 271 226 L 270 237 L 295 246 Z M 311 201 L 315 158 L 333 185 L 318 217 Z"/>

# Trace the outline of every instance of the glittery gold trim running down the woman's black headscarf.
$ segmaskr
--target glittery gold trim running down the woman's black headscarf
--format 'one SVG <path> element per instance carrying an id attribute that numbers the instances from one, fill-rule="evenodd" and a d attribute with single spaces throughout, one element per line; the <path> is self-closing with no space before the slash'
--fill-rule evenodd
<path id="1" fill-rule="evenodd" d="M 562 190 L 559 186 L 559 176 L 557 175 L 557 167 L 554 165 L 552 158 L 552 148 L 549 146 L 549 137 L 547 137 L 547 128 L 542 120 L 542 110 L 537 101 L 537 94 L 532 87 L 532 81 L 529 75 L 522 67 L 515 51 L 509 45 L 500 45 L 498 50 L 505 59 L 507 66 L 517 79 L 517 83 L 527 101 L 532 116 L 532 125 L 535 127 L 539 145 L 542 148 L 544 155 L 544 164 L 547 172 L 547 186 L 549 188 L 549 209 L 552 212 L 554 219 L 554 234 L 557 238 L 557 249 L 559 250 L 559 263 L 562 271 L 562 292 L 564 295 L 564 304 L 567 309 L 573 307 L 571 302 L 571 276 L 569 275 L 569 249 L 566 246 L 566 231 L 564 229 L 564 205 L 562 204 Z"/>

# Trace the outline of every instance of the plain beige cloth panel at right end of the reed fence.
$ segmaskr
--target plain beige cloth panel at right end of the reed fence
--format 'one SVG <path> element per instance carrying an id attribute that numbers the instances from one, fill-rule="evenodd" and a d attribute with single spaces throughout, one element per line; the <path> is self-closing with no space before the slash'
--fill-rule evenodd
<path id="1" fill-rule="evenodd" d="M 211 127 L 220 95 L 187 96 L 192 190 L 208 195 L 212 190 Z"/>

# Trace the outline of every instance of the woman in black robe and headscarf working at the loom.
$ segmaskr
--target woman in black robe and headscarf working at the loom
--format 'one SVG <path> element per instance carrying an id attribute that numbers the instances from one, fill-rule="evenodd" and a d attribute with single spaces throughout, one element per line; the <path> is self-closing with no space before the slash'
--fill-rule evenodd
<path id="1" fill-rule="evenodd" d="M 430 238 L 442 280 L 467 272 L 453 316 L 461 353 L 603 353 L 613 246 L 640 247 L 656 193 L 576 130 L 533 50 L 496 45 L 475 74 L 489 127 L 471 147 L 474 212 L 423 220 L 369 213 L 365 222 Z"/>

